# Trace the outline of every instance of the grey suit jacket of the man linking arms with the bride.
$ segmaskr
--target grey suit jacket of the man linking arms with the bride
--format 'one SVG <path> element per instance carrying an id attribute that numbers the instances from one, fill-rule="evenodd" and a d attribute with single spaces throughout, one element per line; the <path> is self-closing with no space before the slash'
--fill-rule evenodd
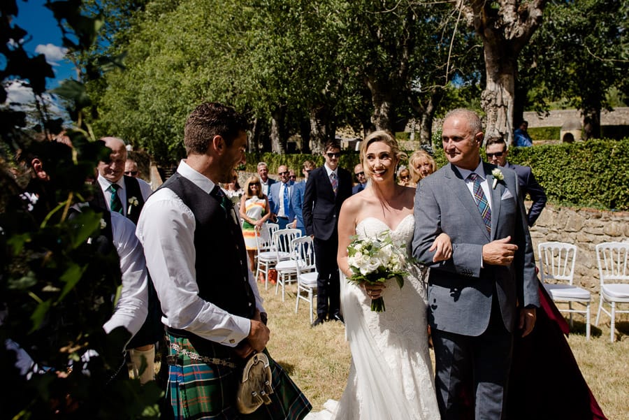
<path id="1" fill-rule="evenodd" d="M 493 168 L 484 164 L 491 189 Z M 413 255 L 431 267 L 428 320 L 432 328 L 461 335 L 480 335 L 489 325 L 496 285 L 505 328 L 513 331 L 516 306 L 539 306 L 535 259 L 517 175 L 500 168 L 504 180 L 491 189 L 491 235 L 461 173 L 447 165 L 419 182 L 415 194 Z M 433 263 L 428 251 L 440 233 L 452 241 L 452 257 Z M 511 266 L 482 267 L 482 247 L 511 236 L 518 246 Z"/>

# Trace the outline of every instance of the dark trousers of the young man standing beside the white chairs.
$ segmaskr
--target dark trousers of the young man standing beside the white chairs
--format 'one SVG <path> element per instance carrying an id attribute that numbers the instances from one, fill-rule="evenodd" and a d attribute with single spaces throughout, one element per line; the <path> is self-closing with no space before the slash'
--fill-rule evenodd
<path id="1" fill-rule="evenodd" d="M 328 240 L 315 238 L 315 264 L 317 266 L 317 317 L 328 319 L 340 314 L 340 282 L 336 253 L 338 235 Z"/>

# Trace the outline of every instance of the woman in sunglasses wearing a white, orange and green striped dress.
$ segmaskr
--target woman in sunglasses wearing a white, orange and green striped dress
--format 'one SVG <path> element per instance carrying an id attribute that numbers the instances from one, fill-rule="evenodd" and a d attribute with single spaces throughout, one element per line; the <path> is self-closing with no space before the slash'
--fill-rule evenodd
<path id="1" fill-rule="evenodd" d="M 240 219 L 243 219 L 243 236 L 252 273 L 256 272 L 256 238 L 269 217 L 268 198 L 262 193 L 262 184 L 258 177 L 250 176 L 245 182 L 245 194 L 240 198 Z"/>

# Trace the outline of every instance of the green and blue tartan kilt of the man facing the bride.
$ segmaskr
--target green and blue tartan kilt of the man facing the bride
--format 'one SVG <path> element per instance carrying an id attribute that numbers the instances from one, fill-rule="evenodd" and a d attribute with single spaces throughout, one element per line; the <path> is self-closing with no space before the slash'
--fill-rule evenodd
<path id="1" fill-rule="evenodd" d="M 244 361 L 236 360 L 229 347 L 202 338 L 168 334 L 168 340 L 189 352 L 228 360 L 237 365 L 230 368 L 192 360 L 189 356 L 176 356 L 174 365 L 168 363 L 166 396 L 171 402 L 175 419 L 301 420 L 312 410 L 308 399 L 265 349 L 273 375 L 271 403 L 261 405 L 251 414 L 240 414 L 236 408 L 236 391 Z M 177 352 L 169 345 L 168 354 L 175 356 Z"/>

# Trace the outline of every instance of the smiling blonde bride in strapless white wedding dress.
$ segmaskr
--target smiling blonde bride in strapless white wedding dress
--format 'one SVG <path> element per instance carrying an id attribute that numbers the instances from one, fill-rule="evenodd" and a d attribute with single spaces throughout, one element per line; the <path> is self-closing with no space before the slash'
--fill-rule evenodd
<path id="1" fill-rule="evenodd" d="M 338 220 L 338 265 L 352 275 L 347 245 L 354 235 L 376 236 L 390 230 L 393 240 L 410 243 L 414 231 L 415 190 L 398 185 L 396 166 L 405 154 L 386 131 L 375 131 L 361 145 L 361 161 L 370 182 L 343 203 Z M 448 236 L 435 240 L 436 259 L 451 254 Z M 439 419 L 433 369 L 428 354 L 426 286 L 419 267 L 400 289 L 396 280 L 382 286 L 358 287 L 341 280 L 341 305 L 352 365 L 335 419 Z M 372 299 L 382 296 L 385 312 L 372 312 Z"/>

